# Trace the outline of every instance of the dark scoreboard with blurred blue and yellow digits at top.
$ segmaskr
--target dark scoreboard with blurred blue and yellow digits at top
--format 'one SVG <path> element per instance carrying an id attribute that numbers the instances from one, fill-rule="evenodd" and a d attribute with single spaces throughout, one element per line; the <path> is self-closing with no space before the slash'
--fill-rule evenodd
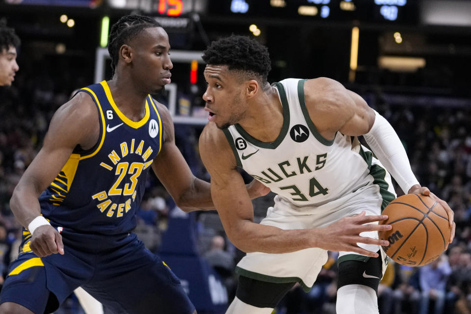
<path id="1" fill-rule="evenodd" d="M 417 0 L 208 0 L 209 14 L 416 24 Z"/>

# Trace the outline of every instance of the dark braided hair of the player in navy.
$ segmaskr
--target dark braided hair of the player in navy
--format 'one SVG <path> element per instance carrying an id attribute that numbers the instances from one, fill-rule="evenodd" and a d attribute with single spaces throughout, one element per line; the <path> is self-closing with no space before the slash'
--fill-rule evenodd
<path id="1" fill-rule="evenodd" d="M 162 27 L 151 17 L 132 14 L 125 15 L 113 24 L 108 38 L 108 52 L 111 56 L 111 70 L 115 71 L 119 60 L 119 49 L 121 46 L 137 36 L 143 29 L 149 27 Z"/>

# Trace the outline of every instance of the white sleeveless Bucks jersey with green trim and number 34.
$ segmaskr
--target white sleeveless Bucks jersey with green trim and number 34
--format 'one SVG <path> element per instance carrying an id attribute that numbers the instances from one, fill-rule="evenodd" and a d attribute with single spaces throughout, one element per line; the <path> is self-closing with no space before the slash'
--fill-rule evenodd
<path id="1" fill-rule="evenodd" d="M 274 83 L 284 116 L 274 142 L 261 142 L 238 124 L 224 130 L 237 165 L 298 207 L 321 206 L 369 184 L 380 186 L 386 205 L 394 199 L 384 180 L 389 174 L 372 162 L 372 153 L 355 136 L 337 132 L 327 140 L 317 132 L 306 108 L 305 81 L 288 78 Z"/>

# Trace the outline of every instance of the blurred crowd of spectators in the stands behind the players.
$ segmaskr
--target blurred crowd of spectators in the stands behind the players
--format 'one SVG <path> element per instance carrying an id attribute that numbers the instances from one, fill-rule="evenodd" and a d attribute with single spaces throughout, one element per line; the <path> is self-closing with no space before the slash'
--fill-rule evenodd
<path id="1" fill-rule="evenodd" d="M 8 205 L 12 191 L 38 152 L 53 112 L 80 87 L 58 88 L 45 72 L 40 73 L 36 77 L 18 76 L 11 88 L 0 87 L 0 284 L 21 237 L 21 226 Z M 389 264 L 378 291 L 380 313 L 471 314 L 471 109 L 386 103 L 376 109 L 403 141 L 421 185 L 448 202 L 456 222 L 455 240 L 436 262 L 423 267 Z M 176 140 L 195 175 L 209 180 L 197 153 L 201 130 L 201 126 L 177 125 Z M 157 179 L 148 177 L 136 233 L 149 249 L 158 252 L 167 214 L 175 205 Z M 258 221 L 272 203 L 272 194 L 254 201 Z M 237 281 L 235 263 L 243 253 L 227 241 L 214 211 L 198 213 L 197 221 L 200 254 L 224 279 L 231 299 Z M 313 289 L 304 293 L 294 287 L 277 313 L 335 313 L 336 258 L 335 252 L 329 253 Z M 79 311 L 74 308 L 63 313 Z"/>

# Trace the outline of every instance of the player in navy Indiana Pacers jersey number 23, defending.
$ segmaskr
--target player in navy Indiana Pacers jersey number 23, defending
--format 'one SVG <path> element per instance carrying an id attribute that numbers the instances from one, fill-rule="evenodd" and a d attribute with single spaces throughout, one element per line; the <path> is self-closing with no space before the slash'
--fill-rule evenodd
<path id="1" fill-rule="evenodd" d="M 170 83 L 169 49 L 155 20 L 121 18 L 109 36 L 113 78 L 82 88 L 53 116 L 10 202 L 26 229 L 1 314 L 52 313 L 79 286 L 113 314 L 196 312 L 170 268 L 131 233 L 151 167 L 180 208 L 213 207 L 209 183 L 175 145 L 168 110 L 149 95 Z"/>

